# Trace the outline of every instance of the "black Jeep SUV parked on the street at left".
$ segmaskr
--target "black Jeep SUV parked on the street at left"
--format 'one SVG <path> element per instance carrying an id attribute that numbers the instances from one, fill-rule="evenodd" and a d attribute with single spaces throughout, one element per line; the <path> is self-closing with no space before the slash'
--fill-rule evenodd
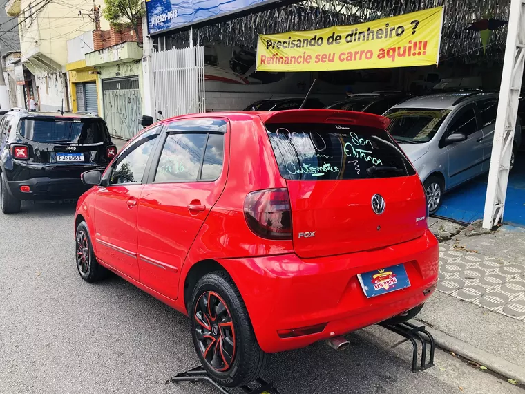
<path id="1" fill-rule="evenodd" d="M 80 174 L 104 169 L 117 154 L 106 122 L 82 113 L 12 109 L 0 121 L 0 207 L 19 212 L 21 200 L 78 198 Z"/>

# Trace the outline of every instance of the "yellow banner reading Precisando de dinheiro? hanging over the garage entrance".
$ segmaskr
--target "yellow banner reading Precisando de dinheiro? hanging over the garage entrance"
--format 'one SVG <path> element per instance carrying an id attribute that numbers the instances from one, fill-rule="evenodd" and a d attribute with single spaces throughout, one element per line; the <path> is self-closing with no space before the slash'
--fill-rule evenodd
<path id="1" fill-rule="evenodd" d="M 305 32 L 259 35 L 257 71 L 430 66 L 439 59 L 443 7 Z"/>

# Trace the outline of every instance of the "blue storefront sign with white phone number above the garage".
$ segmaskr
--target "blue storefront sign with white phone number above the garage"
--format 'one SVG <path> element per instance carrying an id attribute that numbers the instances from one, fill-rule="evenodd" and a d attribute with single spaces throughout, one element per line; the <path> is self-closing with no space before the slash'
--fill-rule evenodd
<path id="1" fill-rule="evenodd" d="M 149 34 L 182 28 L 278 0 L 146 0 Z"/>

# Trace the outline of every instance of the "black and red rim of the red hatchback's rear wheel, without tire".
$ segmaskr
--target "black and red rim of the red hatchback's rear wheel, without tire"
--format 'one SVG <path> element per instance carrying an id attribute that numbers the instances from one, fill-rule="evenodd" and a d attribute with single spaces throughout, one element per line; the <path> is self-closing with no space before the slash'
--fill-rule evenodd
<path id="1" fill-rule="evenodd" d="M 195 335 L 202 357 L 223 372 L 235 357 L 235 328 L 225 301 L 216 292 L 203 292 L 195 304 Z"/>

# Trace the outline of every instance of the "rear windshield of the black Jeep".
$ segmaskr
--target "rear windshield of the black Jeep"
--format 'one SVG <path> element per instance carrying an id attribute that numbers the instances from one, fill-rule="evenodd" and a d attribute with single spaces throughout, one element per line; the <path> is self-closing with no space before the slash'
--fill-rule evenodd
<path id="1" fill-rule="evenodd" d="M 73 142 L 97 144 L 108 140 L 108 129 L 102 120 L 24 119 L 20 134 L 35 142 Z"/>

